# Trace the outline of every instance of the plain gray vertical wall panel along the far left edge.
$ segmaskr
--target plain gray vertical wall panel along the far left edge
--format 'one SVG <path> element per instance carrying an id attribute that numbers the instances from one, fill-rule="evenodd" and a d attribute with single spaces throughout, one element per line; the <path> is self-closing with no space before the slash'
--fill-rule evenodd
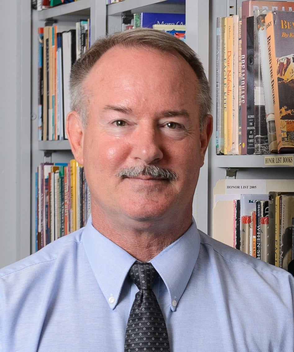
<path id="1" fill-rule="evenodd" d="M 30 254 L 30 7 L 0 2 L 0 267 Z"/>

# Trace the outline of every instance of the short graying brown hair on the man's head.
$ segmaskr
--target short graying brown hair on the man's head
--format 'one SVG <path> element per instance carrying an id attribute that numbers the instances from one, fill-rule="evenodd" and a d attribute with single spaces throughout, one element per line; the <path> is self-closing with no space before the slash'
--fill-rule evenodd
<path id="1" fill-rule="evenodd" d="M 155 29 L 138 28 L 128 30 L 99 38 L 82 55 L 71 69 L 70 92 L 71 92 L 71 109 L 77 111 L 81 117 L 83 126 L 87 124 L 87 96 L 83 89 L 83 83 L 90 70 L 105 54 L 105 52 L 115 46 L 125 48 L 153 48 L 164 52 L 177 51 L 192 67 L 199 83 L 198 104 L 200 106 L 200 128 L 205 126 L 206 115 L 211 110 L 211 94 L 207 77 L 203 65 L 197 54 L 182 40 L 172 36 L 169 33 Z"/>

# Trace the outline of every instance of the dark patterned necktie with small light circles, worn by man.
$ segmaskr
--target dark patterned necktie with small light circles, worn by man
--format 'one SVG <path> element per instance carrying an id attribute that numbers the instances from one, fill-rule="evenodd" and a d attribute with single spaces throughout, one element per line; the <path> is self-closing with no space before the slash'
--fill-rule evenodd
<path id="1" fill-rule="evenodd" d="M 135 262 L 129 277 L 137 285 L 125 335 L 125 352 L 170 351 L 162 311 L 152 291 L 158 272 L 151 263 Z"/>

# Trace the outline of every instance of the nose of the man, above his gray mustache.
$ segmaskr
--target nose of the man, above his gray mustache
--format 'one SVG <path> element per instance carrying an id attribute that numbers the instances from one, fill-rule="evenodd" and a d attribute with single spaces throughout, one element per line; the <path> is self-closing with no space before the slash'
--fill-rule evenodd
<path id="1" fill-rule="evenodd" d="M 132 157 L 144 165 L 155 164 L 163 158 L 162 140 L 155 126 L 140 126 L 132 141 Z"/>

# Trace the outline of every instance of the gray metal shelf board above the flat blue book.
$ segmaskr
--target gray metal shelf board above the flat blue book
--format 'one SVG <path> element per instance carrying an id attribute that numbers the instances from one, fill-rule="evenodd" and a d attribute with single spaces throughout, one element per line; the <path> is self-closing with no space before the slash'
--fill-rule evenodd
<path id="1" fill-rule="evenodd" d="M 185 13 L 185 1 L 169 0 L 125 0 L 107 5 L 107 15 L 120 15 L 122 12 L 162 12 L 162 13 Z"/>

